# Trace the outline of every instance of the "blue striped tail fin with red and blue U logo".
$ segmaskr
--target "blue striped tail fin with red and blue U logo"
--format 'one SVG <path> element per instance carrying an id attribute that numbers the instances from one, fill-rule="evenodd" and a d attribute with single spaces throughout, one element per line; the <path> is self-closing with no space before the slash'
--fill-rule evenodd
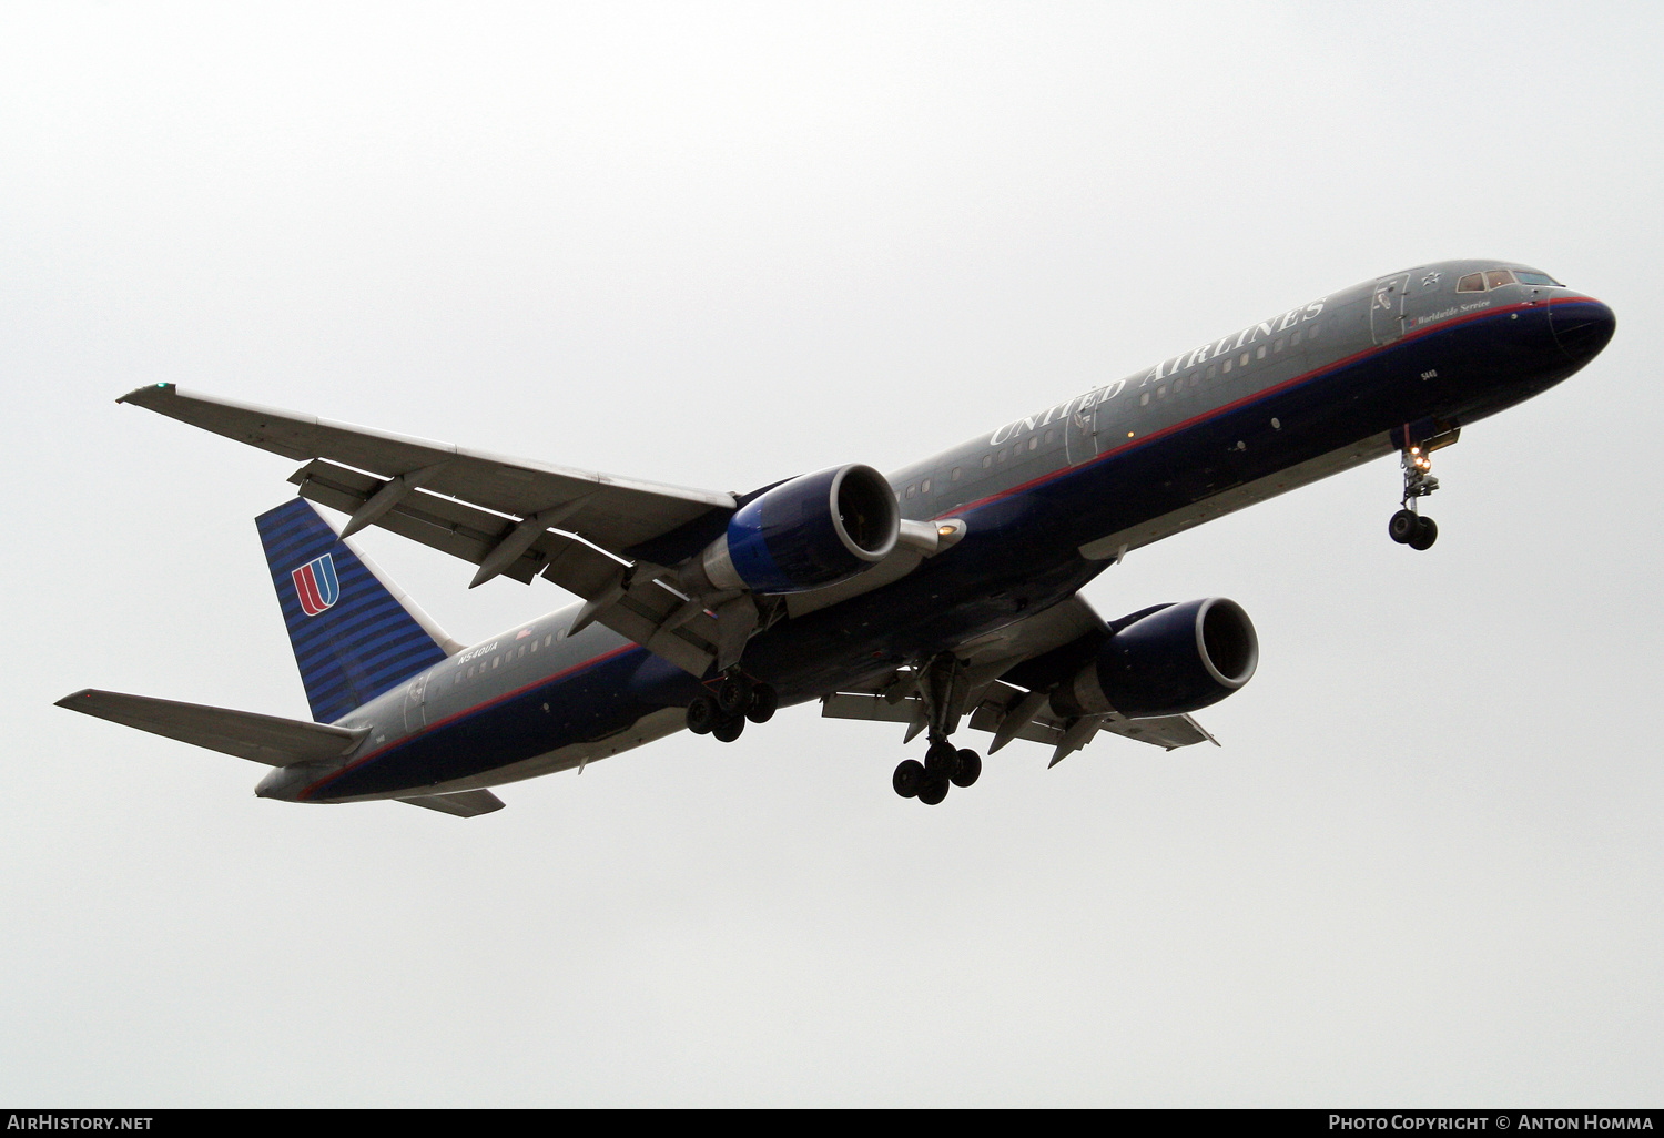
<path id="1" fill-rule="evenodd" d="M 458 646 L 305 499 L 255 519 L 306 702 L 334 722 Z"/>

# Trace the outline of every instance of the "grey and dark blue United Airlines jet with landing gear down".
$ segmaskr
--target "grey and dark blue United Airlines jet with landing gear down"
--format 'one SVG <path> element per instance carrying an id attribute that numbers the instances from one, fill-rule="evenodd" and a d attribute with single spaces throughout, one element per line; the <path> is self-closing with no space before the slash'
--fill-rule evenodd
<path id="1" fill-rule="evenodd" d="M 471 817 L 491 787 L 779 707 L 905 724 L 892 775 L 937 805 L 982 772 L 960 727 L 1052 765 L 1100 734 L 1215 742 L 1255 674 L 1223 597 L 1102 619 L 1128 551 L 1398 454 L 1394 542 L 1426 551 L 1431 454 L 1606 348 L 1612 309 L 1548 273 L 1458 260 L 1283 309 L 890 476 L 850 463 L 747 494 L 659 486 L 180 391 L 118 399 L 305 463 L 256 519 L 313 722 L 87 689 L 60 707 L 271 767 L 255 794 Z M 346 516 L 339 532 L 316 506 Z M 379 526 L 579 602 L 479 644 L 356 549 Z"/>

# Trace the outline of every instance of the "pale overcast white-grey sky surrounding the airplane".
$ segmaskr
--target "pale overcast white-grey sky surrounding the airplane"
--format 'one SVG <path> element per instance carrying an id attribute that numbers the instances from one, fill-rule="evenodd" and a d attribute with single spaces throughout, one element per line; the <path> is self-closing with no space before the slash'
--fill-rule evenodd
<path id="1" fill-rule="evenodd" d="M 1657 1105 L 1654 5 L 8 5 L 0 1100 Z M 85 685 L 306 717 L 253 516 L 156 381 L 745 491 L 957 444 L 1399 268 L 1612 346 L 1143 549 L 1221 594 L 1225 749 L 782 712 L 458 820 L 251 797 Z M 364 544 L 459 639 L 547 582 Z M 978 737 L 983 745 L 987 737 Z"/>

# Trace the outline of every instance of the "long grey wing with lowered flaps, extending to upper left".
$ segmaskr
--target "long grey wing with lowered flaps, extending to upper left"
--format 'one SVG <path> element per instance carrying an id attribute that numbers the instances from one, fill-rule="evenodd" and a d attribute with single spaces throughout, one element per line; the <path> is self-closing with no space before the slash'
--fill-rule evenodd
<path id="1" fill-rule="evenodd" d="M 749 599 L 717 616 L 669 584 L 674 561 L 714 539 L 732 494 L 681 489 L 468 451 L 449 443 L 188 394 L 171 383 L 140 388 L 133 403 L 273 454 L 306 461 L 290 481 L 301 497 L 366 526 L 479 566 L 471 584 L 544 576 L 589 602 L 599 621 L 694 675 L 744 646 L 755 624 Z M 662 552 L 661 552 L 662 551 Z"/>

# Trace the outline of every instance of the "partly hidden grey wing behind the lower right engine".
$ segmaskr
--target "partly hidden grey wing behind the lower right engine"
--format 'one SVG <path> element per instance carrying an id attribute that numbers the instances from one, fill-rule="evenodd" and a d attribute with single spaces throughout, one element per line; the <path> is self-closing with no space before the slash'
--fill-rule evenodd
<path id="1" fill-rule="evenodd" d="M 1020 662 L 1102 627 L 1103 621 L 1083 597 L 1070 597 L 1025 621 L 1017 621 L 953 647 L 953 656 L 965 665 L 938 684 L 937 692 L 945 692 L 943 697 L 955 704 L 955 719 L 968 714 L 972 730 L 985 730 L 993 735 L 990 754 L 1012 739 L 1028 739 L 1055 749 L 1050 762 L 1053 767 L 1070 752 L 1092 742 L 1100 730 L 1166 750 L 1200 742 L 1218 745 L 1218 740 L 1190 715 L 1127 719 L 1110 712 L 1062 717 L 1052 710 L 1045 692 L 1028 692 L 998 679 Z M 884 684 L 824 695 L 820 714 L 827 719 L 907 724 L 905 740 L 912 740 L 930 719 L 929 690 L 930 685 L 922 674 L 899 669 Z"/>

